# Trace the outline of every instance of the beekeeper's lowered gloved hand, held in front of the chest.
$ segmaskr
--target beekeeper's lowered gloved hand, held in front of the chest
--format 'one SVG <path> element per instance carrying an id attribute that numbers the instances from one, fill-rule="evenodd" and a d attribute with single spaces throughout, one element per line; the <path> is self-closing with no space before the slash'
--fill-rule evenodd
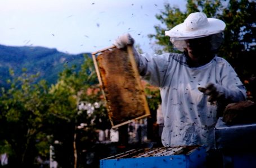
<path id="1" fill-rule="evenodd" d="M 209 96 L 209 102 L 217 101 L 224 97 L 224 93 L 219 92 L 217 86 L 213 83 L 208 83 L 205 87 L 198 87 L 198 90 Z"/>

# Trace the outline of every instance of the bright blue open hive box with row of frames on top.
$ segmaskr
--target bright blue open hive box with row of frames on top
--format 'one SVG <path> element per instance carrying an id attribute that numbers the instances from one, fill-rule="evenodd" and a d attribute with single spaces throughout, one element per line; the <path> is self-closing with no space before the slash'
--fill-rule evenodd
<path id="1" fill-rule="evenodd" d="M 205 167 L 205 147 L 184 146 L 131 150 L 100 160 L 100 168 Z"/>

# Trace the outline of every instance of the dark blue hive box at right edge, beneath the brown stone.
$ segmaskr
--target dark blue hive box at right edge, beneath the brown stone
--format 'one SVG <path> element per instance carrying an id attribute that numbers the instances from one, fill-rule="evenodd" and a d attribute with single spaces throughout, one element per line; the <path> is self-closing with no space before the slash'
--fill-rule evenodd
<path id="1" fill-rule="evenodd" d="M 215 148 L 222 151 L 224 167 L 256 167 L 256 123 L 228 125 L 218 119 L 214 128 Z"/>

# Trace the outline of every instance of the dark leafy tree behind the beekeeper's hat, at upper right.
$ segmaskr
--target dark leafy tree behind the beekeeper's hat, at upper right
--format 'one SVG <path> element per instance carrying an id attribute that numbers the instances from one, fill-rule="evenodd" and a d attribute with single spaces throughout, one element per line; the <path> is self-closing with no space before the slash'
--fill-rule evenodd
<path id="1" fill-rule="evenodd" d="M 226 58 L 244 81 L 256 75 L 256 68 L 252 61 L 255 57 L 255 4 L 255 1 L 248 0 L 188 0 L 187 10 L 182 12 L 179 8 L 171 7 L 166 3 L 164 10 L 156 15 L 164 27 L 155 26 L 156 34 L 149 35 L 149 38 L 154 38 L 157 44 L 163 46 L 164 52 L 177 52 L 169 42 L 168 36 L 164 35 L 164 31 L 181 24 L 191 12 L 204 12 L 208 17 L 220 18 L 226 22 L 226 30 L 218 55 Z M 156 53 L 162 53 L 162 51 L 156 50 Z"/>

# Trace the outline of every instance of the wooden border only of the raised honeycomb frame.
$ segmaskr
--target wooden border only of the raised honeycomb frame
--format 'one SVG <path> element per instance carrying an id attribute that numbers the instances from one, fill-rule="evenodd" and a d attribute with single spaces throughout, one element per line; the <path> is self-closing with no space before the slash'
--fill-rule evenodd
<path id="1" fill-rule="evenodd" d="M 114 113 L 113 113 L 113 110 L 111 111 L 111 109 L 114 109 L 114 108 L 111 107 L 111 105 L 109 103 L 109 100 L 107 99 L 107 96 L 106 96 L 106 93 L 105 93 L 105 90 L 104 90 L 104 88 L 105 88 L 104 82 L 102 81 L 102 73 L 100 71 L 100 68 L 99 68 L 99 65 L 98 65 L 99 63 L 98 63 L 97 58 L 96 58 L 96 54 L 101 55 L 104 52 L 111 52 L 111 50 L 119 50 L 119 49 L 117 49 L 116 46 L 113 45 L 113 46 L 109 46 L 108 48 L 101 49 L 101 50 L 98 50 L 97 52 L 92 53 L 93 63 L 95 65 L 95 69 L 96 69 L 98 81 L 99 81 L 99 84 L 100 84 L 100 87 L 101 87 L 101 90 L 102 90 L 102 94 L 103 94 L 104 99 L 106 101 L 107 111 L 108 111 L 109 119 L 110 119 L 111 126 L 112 126 L 113 129 L 118 128 L 118 127 L 120 127 L 122 125 L 125 125 L 125 124 L 128 124 L 128 123 L 131 123 L 134 120 L 139 120 L 139 119 L 142 119 L 142 118 L 146 118 L 147 116 L 150 116 L 149 106 L 147 105 L 146 96 L 145 96 L 143 87 L 141 85 L 140 75 L 138 73 L 136 62 L 135 62 L 135 59 L 134 59 L 134 56 L 133 56 L 132 46 L 128 45 L 126 49 L 127 49 L 126 52 L 127 52 L 127 55 L 128 55 L 128 61 L 129 61 L 129 63 L 131 63 L 131 68 L 132 68 L 132 71 L 134 73 L 133 74 L 133 76 L 134 76 L 133 80 L 136 82 L 135 84 L 137 84 L 136 87 L 139 88 L 138 91 L 141 92 L 140 100 L 143 102 L 142 106 L 143 106 L 144 113 L 143 113 L 143 115 L 136 116 L 132 119 L 129 119 L 129 120 L 126 120 L 126 121 L 120 122 L 120 123 L 114 123 L 114 121 L 113 121 L 113 114 Z"/>

